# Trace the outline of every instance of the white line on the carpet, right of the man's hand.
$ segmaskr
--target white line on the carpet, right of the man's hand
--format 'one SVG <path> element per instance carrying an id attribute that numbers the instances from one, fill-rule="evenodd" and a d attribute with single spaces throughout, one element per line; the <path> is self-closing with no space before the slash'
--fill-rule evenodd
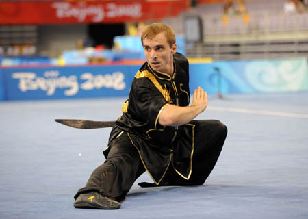
<path id="1" fill-rule="evenodd" d="M 250 110 L 244 108 L 231 108 L 231 107 L 207 107 L 208 110 L 218 110 L 224 112 L 242 112 L 246 114 L 261 114 L 270 116 L 285 116 L 285 117 L 295 117 L 295 118 L 308 118 L 308 114 L 296 114 L 290 112 L 278 112 L 269 110 Z"/>

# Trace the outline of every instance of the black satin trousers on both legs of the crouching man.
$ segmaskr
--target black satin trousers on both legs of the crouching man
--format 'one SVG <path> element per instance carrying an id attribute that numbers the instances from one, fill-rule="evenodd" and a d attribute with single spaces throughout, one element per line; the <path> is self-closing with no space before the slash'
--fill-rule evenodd
<path id="1" fill-rule="evenodd" d="M 195 120 L 194 124 L 195 144 L 190 179 L 183 179 L 170 165 L 159 185 L 203 185 L 213 170 L 227 136 L 227 127 L 219 120 Z M 122 201 L 136 179 L 145 172 L 139 153 L 127 133 L 114 141 L 105 162 L 92 172 L 86 187 L 81 188 L 75 198 L 94 190 Z"/>

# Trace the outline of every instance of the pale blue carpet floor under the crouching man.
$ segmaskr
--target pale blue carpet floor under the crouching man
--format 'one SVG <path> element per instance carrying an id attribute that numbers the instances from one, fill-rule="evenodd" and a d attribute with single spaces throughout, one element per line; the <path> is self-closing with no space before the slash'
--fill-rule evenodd
<path id="1" fill-rule="evenodd" d="M 151 182 L 144 174 L 121 209 L 75 209 L 111 129 L 54 119 L 116 120 L 123 101 L 0 103 L 0 218 L 308 218 L 307 93 L 209 96 L 198 119 L 219 119 L 229 133 L 204 185 L 140 188 Z"/>

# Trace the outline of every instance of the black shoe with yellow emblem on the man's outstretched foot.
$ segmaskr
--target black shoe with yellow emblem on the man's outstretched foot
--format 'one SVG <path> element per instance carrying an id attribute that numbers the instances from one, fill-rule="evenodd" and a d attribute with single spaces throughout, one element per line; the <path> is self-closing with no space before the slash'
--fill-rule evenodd
<path id="1" fill-rule="evenodd" d="M 80 194 L 74 203 L 76 208 L 119 209 L 121 204 L 98 192 Z"/>

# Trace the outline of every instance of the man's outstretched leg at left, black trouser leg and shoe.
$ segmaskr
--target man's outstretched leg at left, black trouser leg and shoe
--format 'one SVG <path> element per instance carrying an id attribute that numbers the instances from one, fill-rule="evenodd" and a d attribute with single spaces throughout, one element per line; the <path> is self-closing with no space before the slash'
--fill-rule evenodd
<path id="1" fill-rule="evenodd" d="M 111 201 L 123 201 L 134 181 L 144 171 L 137 149 L 131 144 L 127 133 L 123 133 L 110 145 L 110 152 L 104 164 L 92 172 L 86 187 L 77 192 L 74 206 L 82 207 L 83 202 L 86 202 L 86 205 L 91 204 L 91 192 L 96 192 L 100 197 L 105 197 Z M 89 196 L 90 201 L 84 201 L 84 196 Z M 79 203 L 79 205 L 76 203 Z M 108 205 L 108 203 L 105 205 Z M 113 202 L 110 205 L 112 205 L 111 208 L 114 208 Z M 108 206 L 101 206 L 103 204 L 98 207 L 94 206 L 94 208 L 109 209 Z"/>

